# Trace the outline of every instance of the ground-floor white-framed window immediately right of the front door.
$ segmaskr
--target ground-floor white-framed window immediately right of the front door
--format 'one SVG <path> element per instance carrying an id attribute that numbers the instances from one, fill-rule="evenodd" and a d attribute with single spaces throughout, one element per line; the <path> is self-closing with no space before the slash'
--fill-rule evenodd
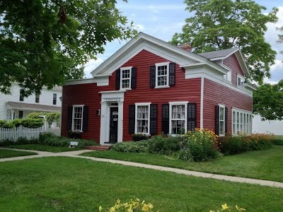
<path id="1" fill-rule="evenodd" d="M 136 134 L 149 134 L 150 127 L 150 102 L 135 103 L 135 129 Z"/>

